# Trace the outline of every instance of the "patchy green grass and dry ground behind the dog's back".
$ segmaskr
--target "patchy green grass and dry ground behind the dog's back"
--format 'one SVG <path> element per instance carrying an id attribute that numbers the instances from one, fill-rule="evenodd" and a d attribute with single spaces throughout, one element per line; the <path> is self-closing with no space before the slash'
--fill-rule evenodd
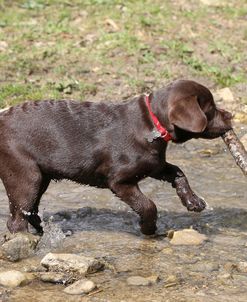
<path id="1" fill-rule="evenodd" d="M 122 98 L 178 77 L 244 83 L 246 14 L 241 0 L 0 0 L 0 106 Z"/>

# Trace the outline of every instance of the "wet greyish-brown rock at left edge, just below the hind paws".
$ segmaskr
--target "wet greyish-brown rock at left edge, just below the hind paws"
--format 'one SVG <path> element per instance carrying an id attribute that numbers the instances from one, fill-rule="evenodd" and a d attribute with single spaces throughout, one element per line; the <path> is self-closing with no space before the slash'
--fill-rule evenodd
<path id="1" fill-rule="evenodd" d="M 0 258 L 12 262 L 27 258 L 33 255 L 39 240 L 39 236 L 30 233 L 5 235 L 5 242 L 0 247 Z"/>

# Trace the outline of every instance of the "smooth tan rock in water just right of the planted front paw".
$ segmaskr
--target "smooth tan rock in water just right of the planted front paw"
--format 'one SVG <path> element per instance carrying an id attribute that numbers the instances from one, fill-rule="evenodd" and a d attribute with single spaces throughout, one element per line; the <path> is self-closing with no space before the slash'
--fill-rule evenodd
<path id="1" fill-rule="evenodd" d="M 193 229 L 175 231 L 170 241 L 173 245 L 199 245 L 207 240 L 207 236 Z"/>

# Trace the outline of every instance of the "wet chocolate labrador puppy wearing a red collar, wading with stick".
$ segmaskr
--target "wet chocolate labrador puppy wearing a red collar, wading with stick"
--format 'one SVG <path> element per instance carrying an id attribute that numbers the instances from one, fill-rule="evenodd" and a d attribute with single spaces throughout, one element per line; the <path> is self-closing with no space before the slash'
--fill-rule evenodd
<path id="1" fill-rule="evenodd" d="M 202 211 L 204 200 L 166 162 L 167 142 L 219 137 L 231 129 L 231 118 L 206 87 L 187 80 L 118 104 L 26 102 L 1 112 L 9 231 L 27 231 L 29 222 L 42 233 L 40 198 L 51 180 L 60 179 L 109 188 L 140 216 L 147 235 L 155 233 L 157 220 L 155 204 L 138 187 L 147 176 L 168 181 L 189 211 Z"/>

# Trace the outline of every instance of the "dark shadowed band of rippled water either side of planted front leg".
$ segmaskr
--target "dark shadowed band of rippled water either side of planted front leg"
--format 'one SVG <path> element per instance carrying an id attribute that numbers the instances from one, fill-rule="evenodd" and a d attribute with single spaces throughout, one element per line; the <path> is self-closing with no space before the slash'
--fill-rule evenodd
<path id="1" fill-rule="evenodd" d="M 117 211 L 84 207 L 67 209 L 56 213 L 45 213 L 44 221 L 51 220 L 64 232 L 127 232 L 140 235 L 138 216 L 132 211 Z M 200 214 L 191 212 L 160 211 L 158 232 L 193 227 L 202 233 L 217 234 L 222 228 L 247 230 L 247 211 L 240 208 L 214 208 Z"/>

